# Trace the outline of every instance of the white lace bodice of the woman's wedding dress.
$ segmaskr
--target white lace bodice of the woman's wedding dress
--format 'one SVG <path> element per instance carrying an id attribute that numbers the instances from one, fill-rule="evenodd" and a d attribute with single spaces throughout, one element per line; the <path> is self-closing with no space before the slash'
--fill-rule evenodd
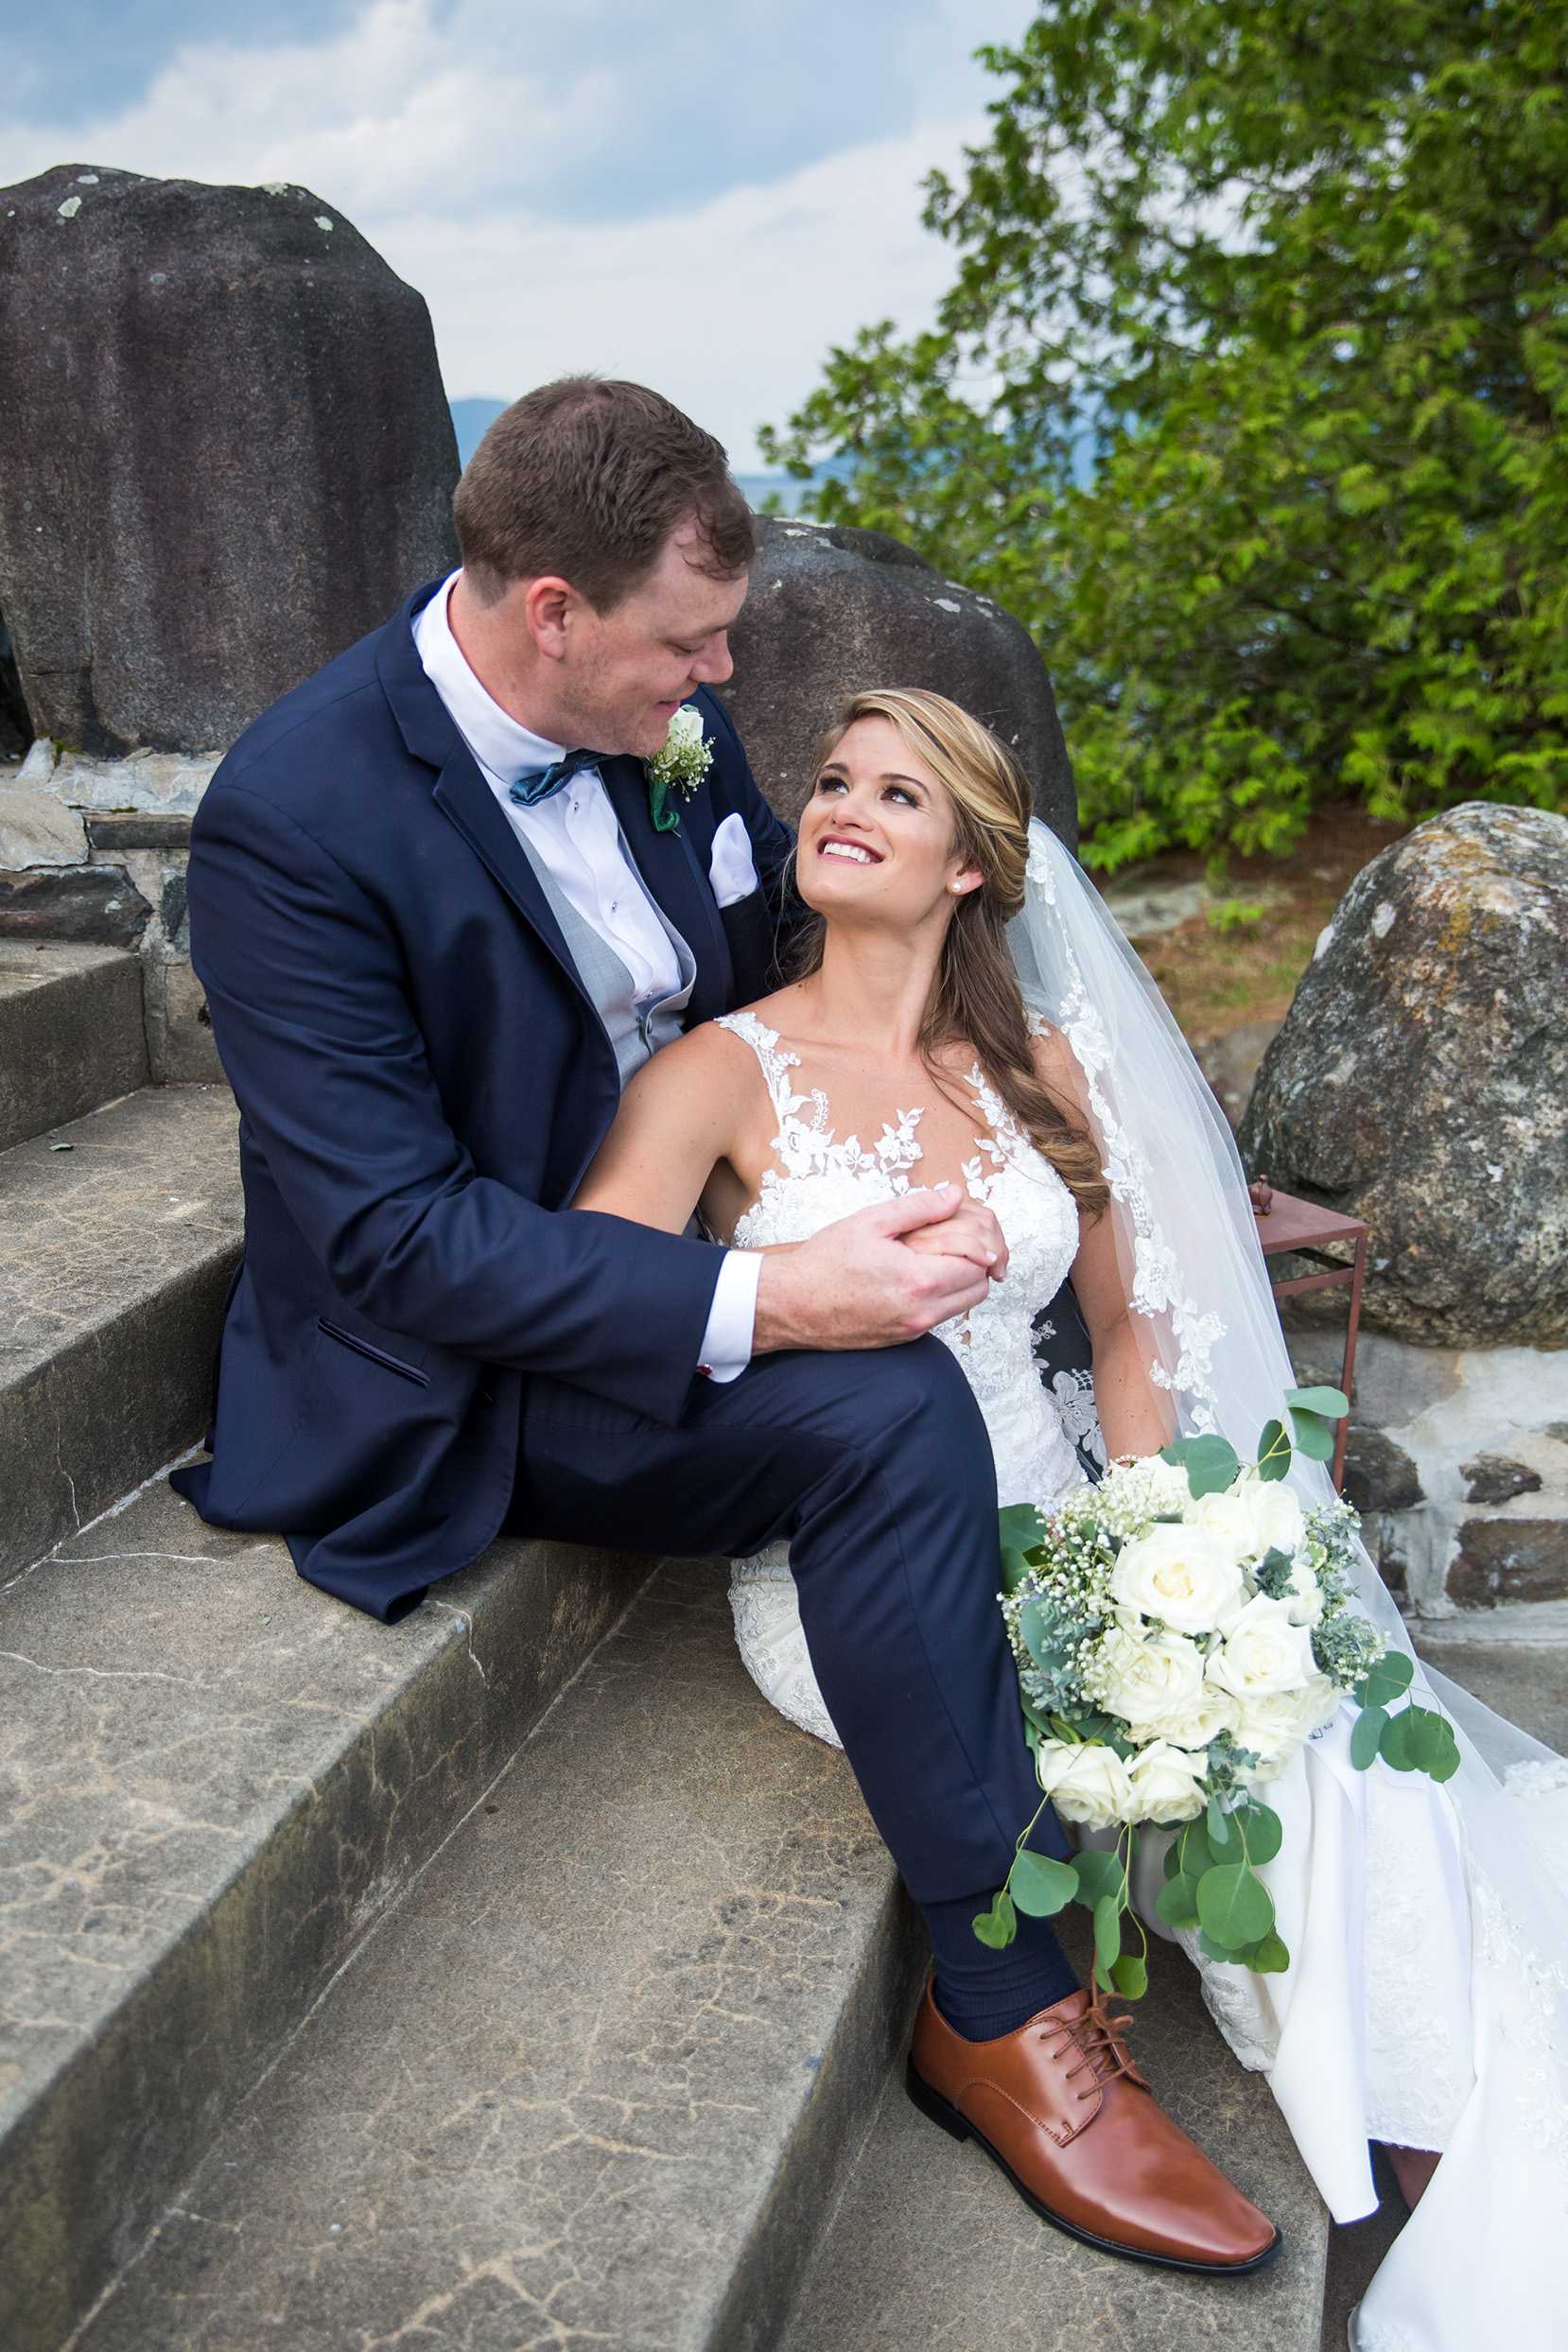
<path id="1" fill-rule="evenodd" d="M 896 1200 L 922 1178 L 919 1110 L 900 1110 L 898 1124 L 863 1148 L 858 1136 L 837 1141 L 827 1096 L 820 1087 L 795 1094 L 790 1073 L 799 1054 L 780 1051 L 778 1033 L 755 1014 L 726 1014 L 733 1030 L 762 1063 L 778 1131 L 778 1167 L 764 1169 L 757 1202 L 738 1218 L 736 1249 L 806 1242 L 823 1225 L 853 1216 L 872 1202 Z M 1079 1211 L 1048 1160 L 1023 1134 L 1006 1103 L 976 1063 L 971 1098 L 985 1134 L 964 1162 L 971 1200 L 985 1202 L 1009 1247 L 1006 1279 L 969 1315 L 936 1327 L 976 1392 L 997 1458 L 1001 1503 L 1044 1503 L 1079 1486 L 1072 1442 L 1060 1411 L 1046 1395 L 1034 1362 L 1034 1317 L 1056 1298 L 1079 1247 Z"/>

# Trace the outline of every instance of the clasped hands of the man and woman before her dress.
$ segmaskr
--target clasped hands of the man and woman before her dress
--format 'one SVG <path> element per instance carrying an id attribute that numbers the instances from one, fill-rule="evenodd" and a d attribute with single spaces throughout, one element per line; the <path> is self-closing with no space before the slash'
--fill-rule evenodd
<path id="1" fill-rule="evenodd" d="M 952 1183 L 905 1192 L 764 1256 L 752 1352 L 898 1348 L 978 1308 L 1004 1272 L 990 1209 Z"/>

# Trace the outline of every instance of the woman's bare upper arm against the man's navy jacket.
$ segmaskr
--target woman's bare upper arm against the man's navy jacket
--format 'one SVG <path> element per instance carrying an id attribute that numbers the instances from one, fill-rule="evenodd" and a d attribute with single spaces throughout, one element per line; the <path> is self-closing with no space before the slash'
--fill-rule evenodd
<path id="1" fill-rule="evenodd" d="M 743 1054 L 724 1030 L 703 1025 L 644 1063 L 571 1207 L 684 1232 L 736 1141 L 750 1075 Z"/>

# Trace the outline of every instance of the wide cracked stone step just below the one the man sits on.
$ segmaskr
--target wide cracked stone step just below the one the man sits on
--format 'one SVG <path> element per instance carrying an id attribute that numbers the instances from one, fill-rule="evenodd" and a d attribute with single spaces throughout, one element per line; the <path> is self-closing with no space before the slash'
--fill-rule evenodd
<path id="1" fill-rule="evenodd" d="M 80 2352 L 769 2345 L 919 1964 L 844 1757 L 741 1668 L 722 1564 L 665 1564 Z"/>

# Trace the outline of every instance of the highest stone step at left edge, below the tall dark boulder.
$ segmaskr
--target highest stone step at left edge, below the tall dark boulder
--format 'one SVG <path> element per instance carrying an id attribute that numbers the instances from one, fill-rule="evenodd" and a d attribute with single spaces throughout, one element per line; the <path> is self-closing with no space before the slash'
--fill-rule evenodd
<path id="1" fill-rule="evenodd" d="M 0 938 L 0 1150 L 146 1082 L 134 955 Z"/>

